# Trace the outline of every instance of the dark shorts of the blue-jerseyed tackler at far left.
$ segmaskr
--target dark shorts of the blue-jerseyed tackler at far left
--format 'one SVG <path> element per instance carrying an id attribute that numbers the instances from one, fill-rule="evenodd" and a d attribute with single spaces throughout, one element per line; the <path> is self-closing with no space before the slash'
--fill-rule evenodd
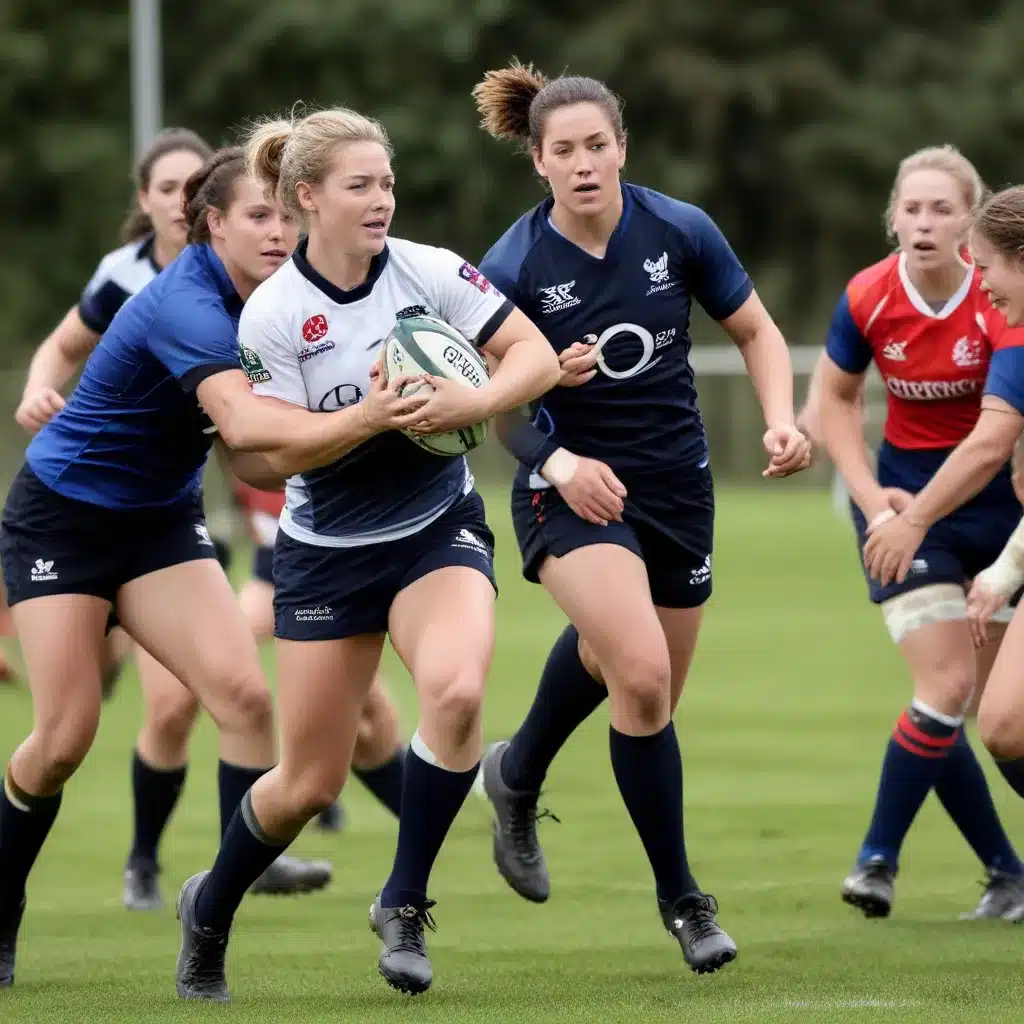
<path id="1" fill-rule="evenodd" d="M 7 603 L 90 594 L 112 604 L 132 580 L 216 558 L 197 495 L 174 508 L 109 509 L 66 498 L 26 465 L 3 509 L 0 563 Z"/>

